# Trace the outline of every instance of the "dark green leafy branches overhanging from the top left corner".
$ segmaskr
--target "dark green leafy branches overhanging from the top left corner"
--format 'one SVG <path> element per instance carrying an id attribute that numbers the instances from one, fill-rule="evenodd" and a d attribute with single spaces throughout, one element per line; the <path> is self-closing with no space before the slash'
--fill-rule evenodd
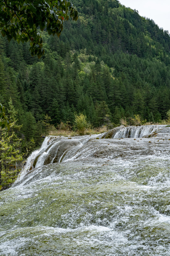
<path id="1" fill-rule="evenodd" d="M 78 19 L 74 5 L 66 0 L 0 1 L 0 31 L 2 36 L 17 42 L 30 41 L 31 55 L 38 58 L 44 54 L 43 40 L 38 28 L 47 29 L 48 34 L 60 36 L 63 20 Z"/>

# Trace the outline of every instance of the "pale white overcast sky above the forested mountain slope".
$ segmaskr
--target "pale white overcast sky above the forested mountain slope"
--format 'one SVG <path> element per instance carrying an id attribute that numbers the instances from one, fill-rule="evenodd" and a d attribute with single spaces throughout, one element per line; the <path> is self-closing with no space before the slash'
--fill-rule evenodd
<path id="1" fill-rule="evenodd" d="M 136 9 L 140 16 L 154 20 L 159 28 L 170 33 L 170 0 L 119 0 L 126 7 Z"/>

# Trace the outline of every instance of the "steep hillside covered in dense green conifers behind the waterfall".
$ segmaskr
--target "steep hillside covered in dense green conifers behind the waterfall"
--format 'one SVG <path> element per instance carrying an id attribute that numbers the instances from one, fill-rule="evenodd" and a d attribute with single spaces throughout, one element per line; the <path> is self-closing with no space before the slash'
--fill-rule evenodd
<path id="1" fill-rule="evenodd" d="M 0 100 L 8 109 L 11 97 L 26 146 L 41 143 L 46 114 L 57 126 L 82 112 L 98 127 L 134 114 L 158 122 L 170 109 L 168 31 L 116 0 L 73 3 L 78 21 L 60 38 L 42 32 L 40 60 L 0 37 Z"/>

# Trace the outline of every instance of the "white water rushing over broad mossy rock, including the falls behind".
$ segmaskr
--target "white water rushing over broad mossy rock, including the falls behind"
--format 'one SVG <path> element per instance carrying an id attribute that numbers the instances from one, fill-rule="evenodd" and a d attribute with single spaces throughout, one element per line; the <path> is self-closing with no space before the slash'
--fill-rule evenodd
<path id="1" fill-rule="evenodd" d="M 0 256 L 168 256 L 170 127 L 48 136 L 0 196 Z"/>

